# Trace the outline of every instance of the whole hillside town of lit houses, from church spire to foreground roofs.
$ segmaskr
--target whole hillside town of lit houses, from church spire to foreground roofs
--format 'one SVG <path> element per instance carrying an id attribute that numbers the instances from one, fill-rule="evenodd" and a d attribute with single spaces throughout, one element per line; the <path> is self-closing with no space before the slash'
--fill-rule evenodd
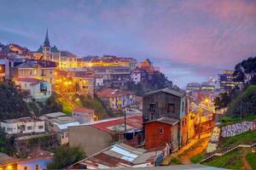
<path id="1" fill-rule="evenodd" d="M 218 95 L 244 88 L 234 71 L 218 73 L 218 80 L 190 82 L 183 90 L 166 77 L 157 79 L 162 73 L 150 59 L 78 56 L 51 45 L 48 30 L 38 50 L 15 43 L 0 47 L 1 93 L 12 88 L 21 97 L 15 102 L 33 107 L 9 108 L 12 96 L 6 96 L 1 135 L 12 142 L 1 145 L 1 169 L 49 168 L 60 147 L 79 148 L 85 157 L 54 168 L 188 164 L 201 152 L 205 159 L 211 156 L 218 139 L 256 129 L 255 121 L 243 122 L 244 129 L 234 133 L 218 125 L 226 110 L 216 108 Z M 149 88 L 152 81 L 164 84 Z"/>

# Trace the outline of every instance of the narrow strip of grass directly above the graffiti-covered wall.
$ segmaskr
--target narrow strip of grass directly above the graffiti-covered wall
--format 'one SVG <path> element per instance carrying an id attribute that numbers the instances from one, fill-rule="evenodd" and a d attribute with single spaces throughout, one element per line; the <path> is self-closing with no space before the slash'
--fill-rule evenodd
<path id="1" fill-rule="evenodd" d="M 256 115 L 243 116 L 243 117 L 222 116 L 218 119 L 218 122 L 221 122 L 220 126 L 224 126 L 224 125 L 233 124 L 236 122 L 253 121 L 255 119 L 256 119 Z"/>

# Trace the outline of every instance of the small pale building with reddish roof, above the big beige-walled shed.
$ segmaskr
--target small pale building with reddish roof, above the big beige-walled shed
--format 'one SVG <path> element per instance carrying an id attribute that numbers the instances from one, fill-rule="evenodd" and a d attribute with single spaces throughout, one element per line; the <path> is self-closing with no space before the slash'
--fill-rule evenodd
<path id="1" fill-rule="evenodd" d="M 93 122 L 94 121 L 94 110 L 85 108 L 76 108 L 73 110 L 72 116 L 79 122 Z"/>

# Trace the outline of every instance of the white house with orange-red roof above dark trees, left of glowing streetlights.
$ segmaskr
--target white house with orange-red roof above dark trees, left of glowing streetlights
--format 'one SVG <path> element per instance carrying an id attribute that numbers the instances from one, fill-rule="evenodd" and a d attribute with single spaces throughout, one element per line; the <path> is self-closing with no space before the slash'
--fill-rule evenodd
<path id="1" fill-rule="evenodd" d="M 15 83 L 20 86 L 21 90 L 28 91 L 32 99 L 37 101 L 49 99 L 51 96 L 51 85 L 49 82 L 37 78 L 24 77 L 17 78 Z"/>

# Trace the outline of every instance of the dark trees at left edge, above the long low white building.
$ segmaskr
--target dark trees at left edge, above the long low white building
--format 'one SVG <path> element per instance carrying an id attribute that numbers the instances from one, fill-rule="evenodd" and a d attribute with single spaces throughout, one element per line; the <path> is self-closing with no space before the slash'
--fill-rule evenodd
<path id="1" fill-rule="evenodd" d="M 29 116 L 26 102 L 14 82 L 0 82 L 0 120 Z"/>

